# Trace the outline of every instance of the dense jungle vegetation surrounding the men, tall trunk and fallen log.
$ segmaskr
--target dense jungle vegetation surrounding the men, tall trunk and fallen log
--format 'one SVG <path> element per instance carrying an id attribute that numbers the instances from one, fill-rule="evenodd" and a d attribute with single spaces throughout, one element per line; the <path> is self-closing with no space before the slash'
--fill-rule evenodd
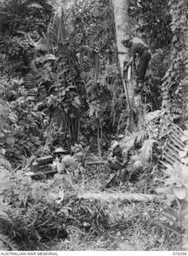
<path id="1" fill-rule="evenodd" d="M 0 250 L 186 248 L 188 7 L 128 2 L 131 35 L 150 46 L 152 58 L 142 127 L 127 131 L 113 1 L 0 1 Z M 138 108 L 131 111 L 138 120 Z M 114 139 L 130 152 L 122 192 L 160 200 L 78 198 L 109 178 L 103 160 Z M 82 177 L 23 175 L 58 146 L 82 158 Z"/>

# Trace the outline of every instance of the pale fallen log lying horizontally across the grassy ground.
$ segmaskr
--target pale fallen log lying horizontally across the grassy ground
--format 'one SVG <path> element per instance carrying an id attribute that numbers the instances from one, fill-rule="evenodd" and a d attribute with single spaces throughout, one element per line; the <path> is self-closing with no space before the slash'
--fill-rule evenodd
<path id="1" fill-rule="evenodd" d="M 78 194 L 79 199 L 96 199 L 99 201 L 127 201 L 127 202 L 152 202 L 161 201 L 162 197 L 156 194 L 125 194 L 125 193 L 85 193 Z"/>

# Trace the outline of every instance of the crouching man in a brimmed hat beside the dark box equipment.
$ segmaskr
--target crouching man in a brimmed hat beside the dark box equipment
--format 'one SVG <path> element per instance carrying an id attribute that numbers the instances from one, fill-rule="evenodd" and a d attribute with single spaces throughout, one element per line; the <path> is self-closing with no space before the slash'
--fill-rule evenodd
<path id="1" fill-rule="evenodd" d="M 54 151 L 54 155 L 56 157 L 58 174 L 74 174 L 78 169 L 78 162 L 67 150 L 59 147 Z"/>

